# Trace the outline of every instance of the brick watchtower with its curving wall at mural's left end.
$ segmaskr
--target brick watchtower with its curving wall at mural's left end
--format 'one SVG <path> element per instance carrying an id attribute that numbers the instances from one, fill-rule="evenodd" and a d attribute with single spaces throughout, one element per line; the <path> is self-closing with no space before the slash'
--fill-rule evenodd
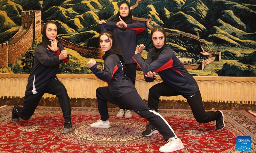
<path id="1" fill-rule="evenodd" d="M 9 63 L 16 62 L 40 35 L 41 11 L 21 11 L 19 31 L 5 43 L 0 44 L 0 67 L 7 67 Z"/>

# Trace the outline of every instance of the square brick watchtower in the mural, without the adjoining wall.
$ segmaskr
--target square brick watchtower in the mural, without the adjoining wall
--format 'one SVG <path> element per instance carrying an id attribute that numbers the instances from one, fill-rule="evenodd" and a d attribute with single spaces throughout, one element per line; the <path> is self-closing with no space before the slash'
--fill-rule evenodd
<path id="1" fill-rule="evenodd" d="M 41 11 L 21 11 L 21 25 L 29 28 L 33 24 L 33 40 L 41 34 Z"/>

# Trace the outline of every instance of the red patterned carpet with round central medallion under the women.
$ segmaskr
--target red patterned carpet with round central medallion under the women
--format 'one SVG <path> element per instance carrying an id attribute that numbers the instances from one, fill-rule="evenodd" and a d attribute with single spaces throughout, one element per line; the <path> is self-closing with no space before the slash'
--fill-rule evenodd
<path id="1" fill-rule="evenodd" d="M 116 118 L 117 108 L 109 108 L 111 128 L 102 129 L 89 126 L 100 118 L 97 108 L 72 107 L 73 132 L 62 135 L 60 107 L 37 107 L 31 119 L 18 123 L 11 121 L 12 107 L 0 108 L 0 152 L 155 153 L 166 143 L 160 134 L 142 137 L 148 121 L 135 113 L 131 119 Z M 214 129 L 215 121 L 197 123 L 191 110 L 160 109 L 159 113 L 183 142 L 185 148 L 179 153 L 238 152 L 237 136 L 251 136 L 256 152 L 256 117 L 247 111 L 223 111 L 223 130 Z"/>

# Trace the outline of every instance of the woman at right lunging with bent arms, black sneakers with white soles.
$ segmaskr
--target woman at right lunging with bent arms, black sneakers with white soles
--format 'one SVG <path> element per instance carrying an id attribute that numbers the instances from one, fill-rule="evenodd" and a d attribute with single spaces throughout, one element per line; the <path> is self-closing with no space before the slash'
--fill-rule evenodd
<path id="1" fill-rule="evenodd" d="M 166 45 L 165 30 L 161 26 L 156 26 L 151 30 L 151 39 L 154 47 L 148 52 L 146 62 L 141 58 L 141 54 L 145 46 L 140 45 L 141 51 L 135 51 L 134 61 L 145 74 L 146 82 L 152 82 L 156 79 L 154 76 L 158 72 L 163 80 L 162 83 L 156 84 L 149 89 L 148 106 L 158 112 L 158 103 L 160 96 L 177 96 L 182 95 L 188 100 L 193 115 L 197 122 L 208 123 L 216 120 L 216 129 L 223 129 L 224 115 L 221 111 L 205 112 L 202 97 L 196 83 L 196 80 L 184 68 L 173 50 Z M 146 136 L 155 129 L 151 123 L 147 125 L 144 131 Z"/>

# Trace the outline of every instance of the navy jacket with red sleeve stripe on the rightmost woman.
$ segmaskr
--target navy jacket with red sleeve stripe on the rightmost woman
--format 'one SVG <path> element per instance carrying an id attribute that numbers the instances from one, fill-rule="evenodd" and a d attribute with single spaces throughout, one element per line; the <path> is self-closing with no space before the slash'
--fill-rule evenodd
<path id="1" fill-rule="evenodd" d="M 132 58 L 144 74 L 149 71 L 158 72 L 165 84 L 181 94 L 192 95 L 199 89 L 196 80 L 184 68 L 171 48 L 165 48 L 155 61 L 152 58 L 152 48 L 148 52 L 146 62 L 141 58 L 141 54 L 135 54 Z M 152 82 L 155 79 L 145 77 L 145 80 L 146 82 Z"/>

